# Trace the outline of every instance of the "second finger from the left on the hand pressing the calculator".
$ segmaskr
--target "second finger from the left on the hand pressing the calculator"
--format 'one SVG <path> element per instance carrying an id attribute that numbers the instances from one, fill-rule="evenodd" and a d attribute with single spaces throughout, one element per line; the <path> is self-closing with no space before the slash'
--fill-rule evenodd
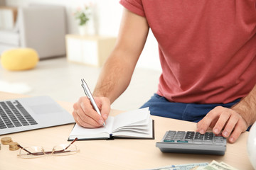
<path id="1" fill-rule="evenodd" d="M 226 110 L 223 111 L 220 114 L 220 118 L 218 118 L 218 121 L 216 122 L 214 128 L 213 128 L 213 132 L 215 134 L 219 134 L 221 130 L 223 130 L 223 128 L 225 127 L 225 124 L 227 123 L 228 119 L 230 118 L 230 111 Z"/>

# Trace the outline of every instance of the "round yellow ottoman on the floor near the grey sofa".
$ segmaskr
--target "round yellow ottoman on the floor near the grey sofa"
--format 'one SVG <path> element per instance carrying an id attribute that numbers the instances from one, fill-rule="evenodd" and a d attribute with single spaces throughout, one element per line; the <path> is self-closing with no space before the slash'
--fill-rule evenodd
<path id="1" fill-rule="evenodd" d="M 33 69 L 38 60 L 38 53 L 31 48 L 6 50 L 1 55 L 1 65 L 11 71 Z"/>

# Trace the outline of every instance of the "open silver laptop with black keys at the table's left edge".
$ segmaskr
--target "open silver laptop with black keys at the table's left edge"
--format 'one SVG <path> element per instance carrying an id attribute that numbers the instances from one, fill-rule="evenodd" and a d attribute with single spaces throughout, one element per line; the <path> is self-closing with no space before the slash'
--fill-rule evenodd
<path id="1" fill-rule="evenodd" d="M 49 96 L 0 101 L 0 135 L 75 123 Z"/>

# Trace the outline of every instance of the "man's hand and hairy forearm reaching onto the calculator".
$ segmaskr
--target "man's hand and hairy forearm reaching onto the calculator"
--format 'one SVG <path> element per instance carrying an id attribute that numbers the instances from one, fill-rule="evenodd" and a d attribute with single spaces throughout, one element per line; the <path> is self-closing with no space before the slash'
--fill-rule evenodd
<path id="1" fill-rule="evenodd" d="M 198 132 L 205 133 L 210 127 L 215 134 L 223 130 L 222 135 L 235 142 L 242 132 L 256 121 L 256 85 L 252 91 L 232 108 L 218 106 L 198 122 Z"/>

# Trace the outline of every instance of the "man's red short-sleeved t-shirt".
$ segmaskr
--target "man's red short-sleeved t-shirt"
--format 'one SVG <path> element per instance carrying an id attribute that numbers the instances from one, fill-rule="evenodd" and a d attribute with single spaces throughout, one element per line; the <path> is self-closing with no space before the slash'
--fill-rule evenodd
<path id="1" fill-rule="evenodd" d="M 121 0 L 159 43 L 157 94 L 181 103 L 229 103 L 256 84 L 256 0 Z"/>

